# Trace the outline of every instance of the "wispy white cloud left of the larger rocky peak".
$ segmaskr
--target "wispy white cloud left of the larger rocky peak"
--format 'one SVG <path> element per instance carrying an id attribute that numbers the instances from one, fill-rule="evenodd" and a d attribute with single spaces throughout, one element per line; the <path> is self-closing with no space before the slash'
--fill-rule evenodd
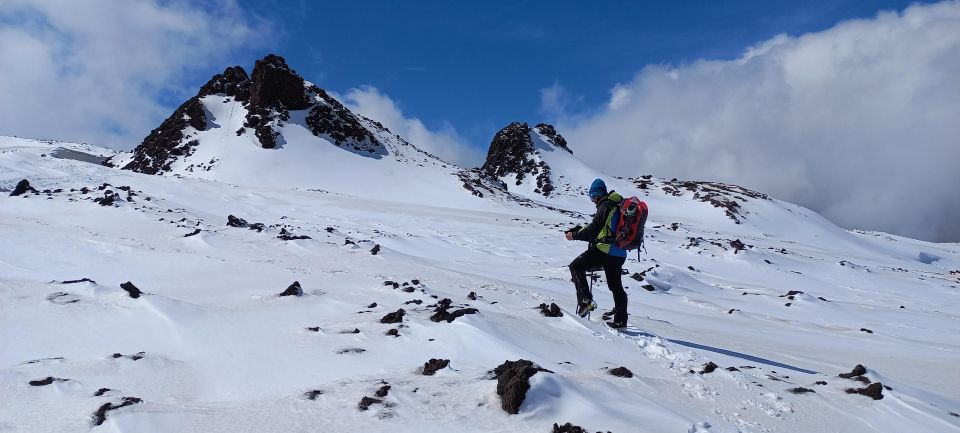
<path id="1" fill-rule="evenodd" d="M 3 0 L 0 134 L 132 148 L 262 26 L 233 0 Z"/>

